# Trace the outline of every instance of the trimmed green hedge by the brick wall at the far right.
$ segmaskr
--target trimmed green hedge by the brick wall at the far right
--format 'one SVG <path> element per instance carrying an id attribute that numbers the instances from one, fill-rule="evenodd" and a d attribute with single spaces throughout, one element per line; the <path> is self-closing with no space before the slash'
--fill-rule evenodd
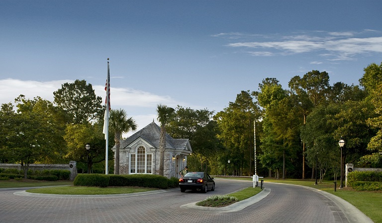
<path id="1" fill-rule="evenodd" d="M 353 171 L 348 174 L 348 185 L 350 187 L 353 187 L 354 189 L 363 188 L 362 190 L 365 190 L 365 188 L 368 188 L 368 187 L 370 187 L 370 189 L 376 188 L 376 187 L 378 188 L 377 185 L 381 182 L 382 182 L 382 172 Z"/>

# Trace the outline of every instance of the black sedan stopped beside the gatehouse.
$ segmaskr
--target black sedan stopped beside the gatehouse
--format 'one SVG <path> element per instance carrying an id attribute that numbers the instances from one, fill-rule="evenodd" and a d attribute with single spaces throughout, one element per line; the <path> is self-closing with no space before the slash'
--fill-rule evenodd
<path id="1" fill-rule="evenodd" d="M 215 181 L 204 172 L 189 172 L 179 179 L 179 187 L 181 192 L 186 190 L 201 191 L 206 193 L 207 190 L 215 190 Z"/>

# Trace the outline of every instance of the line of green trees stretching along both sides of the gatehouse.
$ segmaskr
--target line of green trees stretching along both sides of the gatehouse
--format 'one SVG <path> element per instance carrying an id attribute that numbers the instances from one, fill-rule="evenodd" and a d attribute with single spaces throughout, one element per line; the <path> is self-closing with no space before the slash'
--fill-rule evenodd
<path id="1" fill-rule="evenodd" d="M 286 89 L 276 78 L 265 78 L 256 91 L 241 91 L 216 113 L 158 105 L 158 121 L 164 133 L 190 140 L 192 171 L 303 179 L 319 171 L 321 180 L 335 178 L 341 159 L 364 167 L 382 164 L 382 63 L 370 64 L 359 81 L 330 85 L 328 73 L 311 71 L 292 77 Z M 102 98 L 86 80 L 65 83 L 53 94 L 54 102 L 20 95 L 15 104 L 1 105 L 0 161 L 24 169 L 68 160 L 88 163 L 86 171 L 104 166 Z M 109 149 L 119 149 L 122 134 L 137 128 L 122 109 L 111 110 L 109 126 Z M 119 156 L 111 150 L 109 156 L 113 168 Z"/>

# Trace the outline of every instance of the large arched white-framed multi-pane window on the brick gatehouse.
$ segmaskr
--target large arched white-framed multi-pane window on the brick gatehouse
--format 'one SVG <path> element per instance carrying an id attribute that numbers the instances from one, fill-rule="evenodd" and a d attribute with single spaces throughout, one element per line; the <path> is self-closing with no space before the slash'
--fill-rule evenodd
<path id="1" fill-rule="evenodd" d="M 143 146 L 130 154 L 130 173 L 152 173 L 152 154 L 146 153 Z"/>

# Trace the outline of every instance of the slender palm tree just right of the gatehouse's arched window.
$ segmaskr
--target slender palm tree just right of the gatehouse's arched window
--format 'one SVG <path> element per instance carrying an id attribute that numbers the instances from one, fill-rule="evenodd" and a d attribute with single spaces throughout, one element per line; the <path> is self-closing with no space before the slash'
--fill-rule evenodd
<path id="1" fill-rule="evenodd" d="M 160 161 L 159 161 L 159 175 L 164 176 L 165 169 L 165 149 L 166 149 L 166 124 L 174 115 L 174 108 L 167 107 L 166 105 L 157 105 L 158 121 L 161 123 L 161 138 L 159 143 Z"/>

